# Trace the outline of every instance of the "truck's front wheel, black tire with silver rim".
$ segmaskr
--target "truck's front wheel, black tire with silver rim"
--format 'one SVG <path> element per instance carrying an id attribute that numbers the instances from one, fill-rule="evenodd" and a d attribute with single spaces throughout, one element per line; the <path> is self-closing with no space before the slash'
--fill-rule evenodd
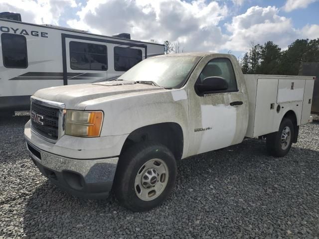
<path id="1" fill-rule="evenodd" d="M 126 208 L 143 212 L 163 202 L 176 179 L 176 162 L 162 144 L 144 142 L 120 156 L 113 190 Z"/>

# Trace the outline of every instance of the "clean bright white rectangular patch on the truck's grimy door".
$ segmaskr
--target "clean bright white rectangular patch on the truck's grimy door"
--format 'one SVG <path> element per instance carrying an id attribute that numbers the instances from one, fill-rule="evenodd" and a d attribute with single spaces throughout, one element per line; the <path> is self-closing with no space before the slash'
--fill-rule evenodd
<path id="1" fill-rule="evenodd" d="M 202 126 L 211 129 L 201 131 L 198 153 L 231 145 L 236 132 L 236 108 L 225 105 L 202 105 Z"/>

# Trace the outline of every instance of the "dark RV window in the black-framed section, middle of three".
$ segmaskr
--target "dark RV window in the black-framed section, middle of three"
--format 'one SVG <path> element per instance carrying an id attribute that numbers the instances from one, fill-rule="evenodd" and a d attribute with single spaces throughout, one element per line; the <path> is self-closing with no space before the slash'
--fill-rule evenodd
<path id="1" fill-rule="evenodd" d="M 106 71 L 106 45 L 86 42 L 70 42 L 70 66 L 73 70 Z"/>

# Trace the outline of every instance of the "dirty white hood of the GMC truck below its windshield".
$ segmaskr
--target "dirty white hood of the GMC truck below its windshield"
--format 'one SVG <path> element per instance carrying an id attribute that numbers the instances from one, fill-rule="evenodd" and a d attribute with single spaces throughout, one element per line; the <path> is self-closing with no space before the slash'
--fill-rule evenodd
<path id="1" fill-rule="evenodd" d="M 91 84 L 69 85 L 50 87 L 38 90 L 34 96 L 64 103 L 66 109 L 77 109 L 77 106 L 85 101 L 98 99 L 120 94 L 144 94 L 150 91 L 159 91 L 165 89 L 149 84 L 140 84 L 132 81 L 110 81 Z"/>

